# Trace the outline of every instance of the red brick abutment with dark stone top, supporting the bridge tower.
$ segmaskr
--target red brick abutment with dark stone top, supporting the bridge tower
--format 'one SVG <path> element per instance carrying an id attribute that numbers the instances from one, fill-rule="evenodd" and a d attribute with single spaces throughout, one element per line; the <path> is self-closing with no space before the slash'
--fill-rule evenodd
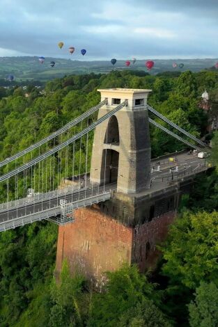
<path id="1" fill-rule="evenodd" d="M 189 193 L 193 180 L 134 196 L 114 192 L 111 200 L 75 210 L 75 222 L 59 227 L 56 276 L 64 259 L 72 273 L 99 282 L 105 271 L 123 263 L 137 263 L 142 272 L 155 268 L 157 245 L 166 239 L 180 197 Z"/>

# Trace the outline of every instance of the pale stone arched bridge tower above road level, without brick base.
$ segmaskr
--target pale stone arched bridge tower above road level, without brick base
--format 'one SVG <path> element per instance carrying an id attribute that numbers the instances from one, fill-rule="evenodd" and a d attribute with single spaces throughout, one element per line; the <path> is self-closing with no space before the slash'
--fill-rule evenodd
<path id="1" fill-rule="evenodd" d="M 98 90 L 101 101 L 98 118 L 128 100 L 109 120 L 95 129 L 91 181 L 117 182 L 117 191 L 139 193 L 150 187 L 150 134 L 147 97 L 151 90 L 111 88 Z"/>

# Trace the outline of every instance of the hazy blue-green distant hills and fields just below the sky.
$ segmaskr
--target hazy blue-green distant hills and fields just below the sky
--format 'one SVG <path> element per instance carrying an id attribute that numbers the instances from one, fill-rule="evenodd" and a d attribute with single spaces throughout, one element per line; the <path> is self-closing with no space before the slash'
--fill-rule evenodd
<path id="1" fill-rule="evenodd" d="M 49 65 L 50 61 L 56 63 L 53 68 Z M 150 74 L 166 71 L 182 72 L 185 70 L 198 72 L 210 69 L 217 61 L 218 59 L 155 60 L 155 66 Z M 113 69 L 147 71 L 145 62 L 146 59 L 137 61 L 130 67 L 125 67 L 125 61 L 117 61 L 116 65 L 112 66 L 110 61 L 72 61 L 61 58 L 45 58 L 45 63 L 40 64 L 37 57 L 1 57 L 0 79 L 5 79 L 8 74 L 13 74 L 17 80 L 38 79 L 46 81 L 47 79 L 59 78 L 68 74 L 106 73 Z M 175 69 L 172 67 L 174 62 L 178 63 L 178 65 L 184 63 L 184 67 Z"/>

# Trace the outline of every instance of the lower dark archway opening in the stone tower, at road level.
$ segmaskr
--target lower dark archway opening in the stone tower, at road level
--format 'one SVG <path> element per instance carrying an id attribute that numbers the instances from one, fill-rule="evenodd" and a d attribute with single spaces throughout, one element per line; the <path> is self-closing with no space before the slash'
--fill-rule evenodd
<path id="1" fill-rule="evenodd" d="M 119 152 L 104 149 L 102 155 L 101 181 L 105 184 L 116 183 L 118 179 Z"/>

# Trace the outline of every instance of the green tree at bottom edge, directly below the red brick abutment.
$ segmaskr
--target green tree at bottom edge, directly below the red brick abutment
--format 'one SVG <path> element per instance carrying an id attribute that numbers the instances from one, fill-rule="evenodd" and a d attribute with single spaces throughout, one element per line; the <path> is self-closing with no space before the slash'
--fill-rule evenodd
<path id="1" fill-rule="evenodd" d="M 93 296 L 88 326 L 170 326 L 153 303 L 154 286 L 137 266 L 124 265 L 107 278 L 105 292 Z"/>

